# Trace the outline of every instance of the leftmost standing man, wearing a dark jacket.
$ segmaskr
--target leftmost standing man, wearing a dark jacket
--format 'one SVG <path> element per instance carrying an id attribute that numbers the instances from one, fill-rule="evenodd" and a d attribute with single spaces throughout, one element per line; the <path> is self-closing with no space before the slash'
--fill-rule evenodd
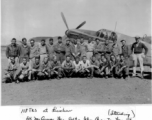
<path id="1" fill-rule="evenodd" d="M 16 63 L 18 64 L 18 58 L 20 56 L 20 47 L 16 44 L 16 38 L 12 38 L 11 44 L 6 48 L 6 57 L 10 63 L 10 57 L 14 57 Z"/>

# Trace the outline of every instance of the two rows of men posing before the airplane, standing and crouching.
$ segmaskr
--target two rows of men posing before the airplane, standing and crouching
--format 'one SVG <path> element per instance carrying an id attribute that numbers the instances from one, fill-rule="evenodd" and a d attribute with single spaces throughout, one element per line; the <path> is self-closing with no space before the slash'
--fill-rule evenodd
<path id="1" fill-rule="evenodd" d="M 139 59 L 141 73 L 143 74 L 144 54 L 142 50 L 147 47 L 139 42 L 132 45 L 134 69 L 133 76 L 136 75 L 136 64 Z M 57 44 L 54 45 L 53 38 L 49 39 L 46 44 L 45 39 L 40 44 L 36 44 L 34 39 L 27 44 L 26 38 L 22 39 L 22 44 L 16 44 L 16 39 L 11 40 L 11 44 L 7 46 L 6 57 L 8 58 L 8 68 L 6 69 L 5 82 L 43 80 L 43 79 L 61 79 L 63 77 L 114 77 L 127 79 L 129 76 L 130 57 L 129 48 L 126 41 L 122 40 L 122 46 L 117 44 L 117 39 L 113 40 L 112 46 L 109 40 L 104 43 L 97 38 L 95 41 L 89 39 L 84 42 L 80 38 L 73 41 L 66 40 L 64 44 L 62 37 L 58 37 Z"/>

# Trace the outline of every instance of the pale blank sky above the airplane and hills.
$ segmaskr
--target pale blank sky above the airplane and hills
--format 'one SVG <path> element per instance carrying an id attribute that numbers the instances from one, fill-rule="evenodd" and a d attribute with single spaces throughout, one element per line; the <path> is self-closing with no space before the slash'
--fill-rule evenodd
<path id="1" fill-rule="evenodd" d="M 2 41 L 36 36 L 63 36 L 66 27 L 97 31 L 102 28 L 126 35 L 150 35 L 150 0 L 2 0 Z"/>

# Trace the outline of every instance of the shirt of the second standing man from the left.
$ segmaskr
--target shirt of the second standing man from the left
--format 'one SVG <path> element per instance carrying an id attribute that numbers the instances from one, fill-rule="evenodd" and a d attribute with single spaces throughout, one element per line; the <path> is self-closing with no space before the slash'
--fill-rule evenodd
<path id="1" fill-rule="evenodd" d="M 30 47 L 28 45 L 20 46 L 20 57 L 29 57 L 30 55 Z"/>

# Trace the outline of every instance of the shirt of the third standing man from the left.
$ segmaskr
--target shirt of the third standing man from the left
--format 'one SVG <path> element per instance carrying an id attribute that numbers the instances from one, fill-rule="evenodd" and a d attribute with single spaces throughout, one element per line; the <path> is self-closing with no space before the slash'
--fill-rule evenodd
<path id="1" fill-rule="evenodd" d="M 32 59 L 37 55 L 39 55 L 39 46 L 34 44 L 34 46 L 30 46 L 30 58 Z"/>

